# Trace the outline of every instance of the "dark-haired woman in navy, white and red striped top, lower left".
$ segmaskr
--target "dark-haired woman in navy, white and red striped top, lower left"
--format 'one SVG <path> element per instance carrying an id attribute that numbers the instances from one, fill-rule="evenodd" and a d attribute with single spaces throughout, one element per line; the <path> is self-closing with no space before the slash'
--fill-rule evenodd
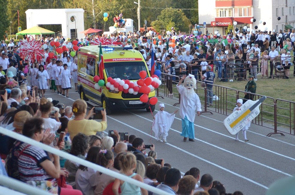
<path id="1" fill-rule="evenodd" d="M 43 119 L 41 118 L 28 119 L 24 124 L 22 134 L 40 142 L 44 136 L 44 129 L 42 125 Z M 61 142 L 59 147 L 63 147 L 63 144 L 64 143 Z M 55 179 L 58 179 L 60 174 L 64 174 L 60 170 L 59 156 L 52 154 L 54 162 L 51 162 L 48 154 L 38 147 L 22 142 L 15 142 L 14 147 L 13 155 L 18 154 L 16 159 L 18 164 L 19 179 L 21 181 L 28 182 L 36 187 L 45 189 L 45 191 L 52 194 L 82 194 L 78 190 L 73 190 L 73 188 L 69 185 L 67 185 L 66 188 L 60 188 L 57 186 Z"/>

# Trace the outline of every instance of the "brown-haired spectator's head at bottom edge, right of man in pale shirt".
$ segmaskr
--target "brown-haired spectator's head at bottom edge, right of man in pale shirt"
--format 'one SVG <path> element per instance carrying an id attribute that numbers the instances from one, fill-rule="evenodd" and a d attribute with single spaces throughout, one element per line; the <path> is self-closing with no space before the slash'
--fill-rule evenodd
<path id="1" fill-rule="evenodd" d="M 187 175 L 179 180 L 177 195 L 192 195 L 196 185 L 193 176 Z"/>

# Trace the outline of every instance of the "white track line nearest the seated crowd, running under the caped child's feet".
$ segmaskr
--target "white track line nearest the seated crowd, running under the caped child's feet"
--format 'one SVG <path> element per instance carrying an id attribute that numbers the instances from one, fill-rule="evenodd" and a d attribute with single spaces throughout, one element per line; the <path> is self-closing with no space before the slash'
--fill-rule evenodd
<path id="1" fill-rule="evenodd" d="M 145 135 L 147 135 L 147 136 L 150 136 L 150 137 L 156 139 L 154 136 L 151 136 L 150 134 L 145 133 L 145 132 L 143 132 L 142 130 L 139 130 L 139 129 L 134 128 L 134 127 L 132 127 L 132 126 L 130 126 L 130 125 L 127 125 L 126 123 L 121 122 L 121 121 L 119 121 L 119 120 L 117 120 L 117 119 L 114 119 L 114 118 L 112 118 L 112 117 L 110 117 L 110 116 L 107 116 L 107 117 L 110 118 L 110 119 L 113 119 L 114 121 L 119 122 L 119 123 L 121 123 L 121 124 L 123 124 L 123 125 L 126 125 L 126 126 L 129 127 L 129 128 L 132 128 L 132 129 L 134 129 L 134 130 L 136 130 L 136 131 L 139 131 L 139 132 L 141 132 L 141 133 L 143 133 L 143 134 L 145 134 Z M 217 164 L 215 164 L 215 163 L 213 163 L 213 162 L 210 162 L 209 160 L 203 159 L 203 158 L 201 158 L 200 156 L 197 156 L 197 155 L 195 155 L 195 154 L 193 154 L 193 153 L 190 153 L 190 152 L 188 152 L 188 151 L 185 151 L 185 150 L 183 150 L 182 148 L 178 148 L 177 146 L 174 146 L 174 145 L 172 145 L 172 144 L 170 144 L 170 143 L 166 143 L 166 144 L 167 144 L 167 145 L 170 145 L 171 147 L 176 148 L 176 149 L 178 149 L 178 150 L 180 150 L 180 151 L 182 151 L 182 152 L 184 152 L 184 153 L 187 153 L 187 154 L 189 154 L 189 155 L 191 155 L 191 156 L 194 156 L 194 157 L 196 157 L 197 159 L 200 159 L 200 160 L 202 160 L 202 161 L 204 161 L 204 162 L 207 162 L 207 163 L 209 163 L 210 165 L 216 166 L 216 167 L 222 169 L 223 171 L 227 171 L 227 172 L 229 172 L 229 173 L 232 173 L 232 174 L 235 175 L 235 176 L 241 177 L 241 178 L 243 178 L 243 179 L 245 179 L 245 180 L 247 180 L 247 181 L 249 181 L 249 182 L 251 182 L 251 183 L 253 183 L 253 184 L 256 184 L 256 185 L 262 187 L 262 188 L 268 189 L 266 186 L 264 186 L 264 185 L 262 185 L 262 184 L 260 184 L 260 183 L 258 183 L 258 182 L 256 182 L 256 181 L 254 181 L 254 180 L 252 180 L 252 179 L 249 179 L 249 178 L 247 178 L 247 177 L 245 177 L 245 176 L 242 176 L 242 175 L 240 175 L 240 174 L 238 174 L 238 173 L 235 173 L 235 172 L 233 172 L 233 171 L 230 171 L 230 170 L 227 169 L 227 168 L 224 168 L 224 167 L 222 167 L 222 166 L 220 166 L 220 165 L 217 165 Z"/>

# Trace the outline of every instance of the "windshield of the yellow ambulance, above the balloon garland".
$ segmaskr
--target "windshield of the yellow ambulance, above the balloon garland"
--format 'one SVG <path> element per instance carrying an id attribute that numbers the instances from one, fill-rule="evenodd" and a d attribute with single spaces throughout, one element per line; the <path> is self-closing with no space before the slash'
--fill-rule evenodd
<path id="1" fill-rule="evenodd" d="M 108 62 L 104 63 L 107 76 L 112 78 L 138 80 L 139 72 L 147 71 L 144 62 Z"/>

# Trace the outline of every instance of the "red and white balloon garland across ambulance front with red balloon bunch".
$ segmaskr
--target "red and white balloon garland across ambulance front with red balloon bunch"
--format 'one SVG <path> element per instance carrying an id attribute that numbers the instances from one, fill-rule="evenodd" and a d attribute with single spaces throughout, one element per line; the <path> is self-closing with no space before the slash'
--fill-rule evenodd
<path id="1" fill-rule="evenodd" d="M 156 89 L 159 87 L 159 85 L 162 84 L 161 80 L 158 76 L 153 75 L 151 77 L 147 77 L 147 72 L 142 70 L 139 72 L 139 76 L 141 79 L 139 79 L 136 82 L 130 81 L 128 79 L 120 79 L 112 77 L 107 78 L 106 88 L 108 90 L 113 91 L 122 91 L 124 93 L 130 93 L 133 95 L 137 95 L 138 93 L 143 93 L 142 96 L 140 96 L 140 101 L 147 103 L 149 102 L 151 105 L 155 105 L 158 102 L 158 99 L 156 97 L 152 97 L 150 100 L 148 99 L 148 94 L 150 91 Z"/>

